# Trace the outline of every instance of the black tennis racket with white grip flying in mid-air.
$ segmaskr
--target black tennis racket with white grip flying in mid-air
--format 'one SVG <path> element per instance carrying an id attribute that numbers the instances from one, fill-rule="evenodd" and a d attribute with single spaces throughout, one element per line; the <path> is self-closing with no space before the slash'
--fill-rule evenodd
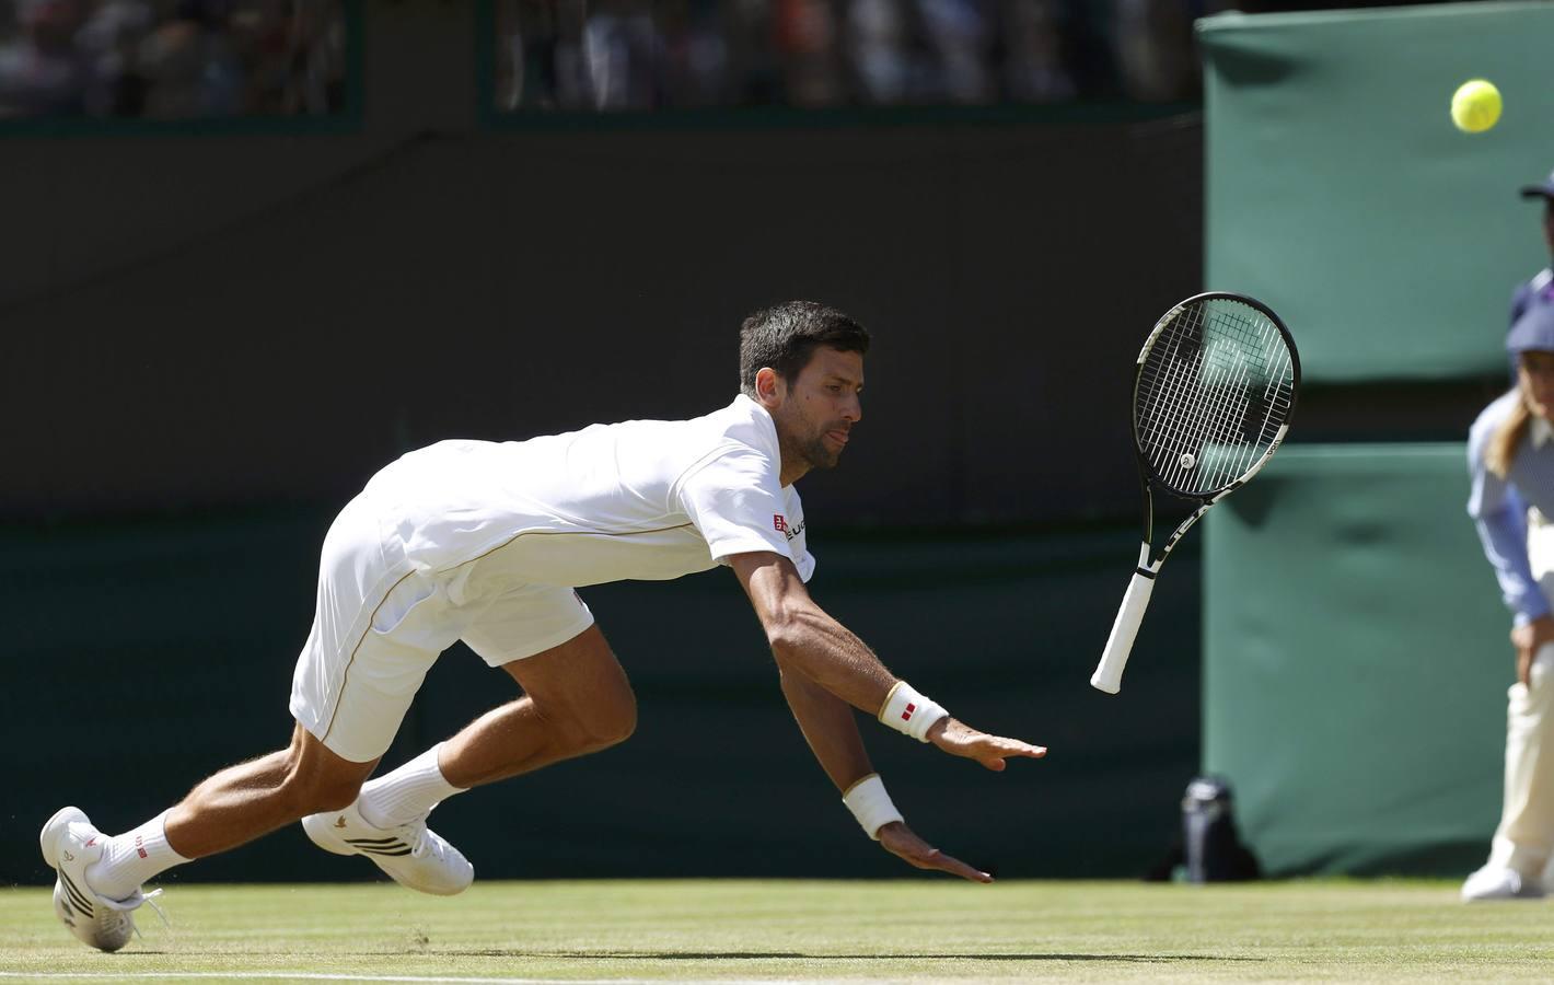
<path id="1" fill-rule="evenodd" d="M 1268 463 L 1294 413 L 1301 357 L 1267 305 L 1239 294 L 1187 298 L 1144 340 L 1133 382 L 1133 447 L 1144 485 L 1144 545 L 1091 687 L 1116 694 L 1170 550 L 1209 506 Z M 1155 552 L 1159 489 L 1193 503 Z"/>

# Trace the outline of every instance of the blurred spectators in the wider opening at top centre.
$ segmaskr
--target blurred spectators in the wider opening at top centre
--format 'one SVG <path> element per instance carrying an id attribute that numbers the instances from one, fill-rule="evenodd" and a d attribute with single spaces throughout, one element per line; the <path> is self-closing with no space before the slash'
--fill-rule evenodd
<path id="1" fill-rule="evenodd" d="M 497 0 L 500 110 L 1195 99 L 1217 0 Z"/>

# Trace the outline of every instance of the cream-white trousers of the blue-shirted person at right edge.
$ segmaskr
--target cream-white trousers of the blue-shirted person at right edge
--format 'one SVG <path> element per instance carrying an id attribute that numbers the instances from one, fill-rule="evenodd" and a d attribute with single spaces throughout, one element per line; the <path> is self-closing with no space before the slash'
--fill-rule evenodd
<path id="1" fill-rule="evenodd" d="M 1554 520 L 1528 511 L 1528 561 L 1543 593 L 1554 600 Z M 1538 879 L 1554 861 L 1554 643 L 1532 660 L 1531 687 L 1506 693 L 1506 800 L 1490 844 L 1489 864 Z"/>

